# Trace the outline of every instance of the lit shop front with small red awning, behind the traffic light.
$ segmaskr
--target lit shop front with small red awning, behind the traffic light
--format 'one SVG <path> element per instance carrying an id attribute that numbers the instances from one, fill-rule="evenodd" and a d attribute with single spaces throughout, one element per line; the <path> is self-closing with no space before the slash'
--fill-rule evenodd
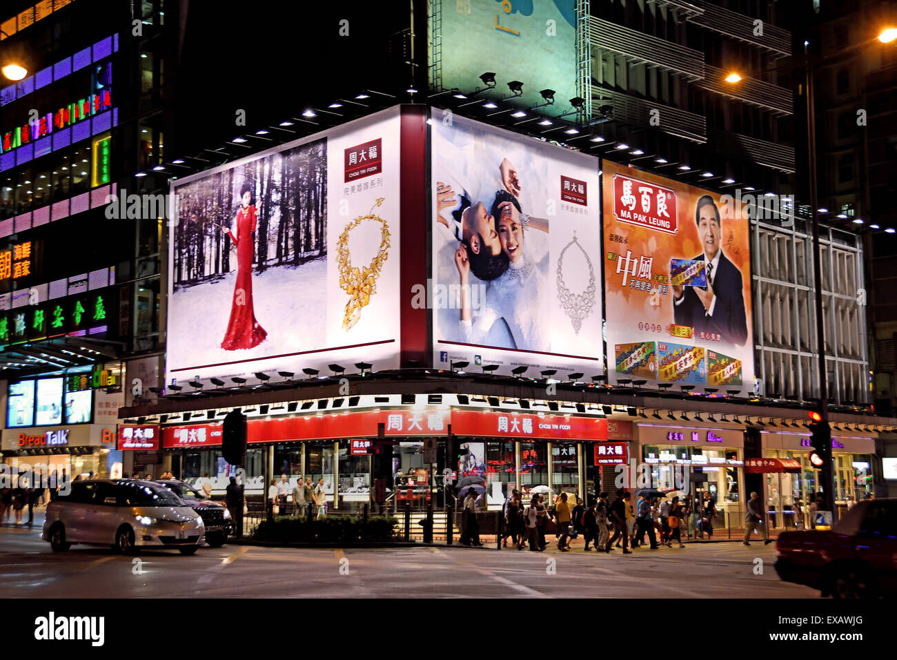
<path id="1" fill-rule="evenodd" d="M 810 462 L 813 447 L 809 432 L 761 431 L 763 457 L 794 459 L 800 462 L 795 473 L 768 473 L 764 475 L 767 510 L 770 524 L 779 529 L 794 529 L 795 510 L 801 506 L 805 514 L 812 504 L 818 488 L 820 472 Z M 849 505 L 864 499 L 872 492 L 872 456 L 875 454 L 875 438 L 871 436 L 847 436 L 832 431 L 832 460 L 834 462 L 834 502 L 839 516 Z"/>

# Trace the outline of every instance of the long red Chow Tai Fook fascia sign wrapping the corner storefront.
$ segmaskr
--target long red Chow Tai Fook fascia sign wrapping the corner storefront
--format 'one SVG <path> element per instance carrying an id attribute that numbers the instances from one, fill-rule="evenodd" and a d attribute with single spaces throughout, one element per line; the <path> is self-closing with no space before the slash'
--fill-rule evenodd
<path id="1" fill-rule="evenodd" d="M 630 421 L 566 415 L 524 415 L 479 410 L 370 410 L 305 417 L 250 419 L 247 442 L 377 436 L 533 437 L 545 440 L 629 440 Z M 196 424 L 162 429 L 164 448 L 222 444 L 222 425 Z"/>

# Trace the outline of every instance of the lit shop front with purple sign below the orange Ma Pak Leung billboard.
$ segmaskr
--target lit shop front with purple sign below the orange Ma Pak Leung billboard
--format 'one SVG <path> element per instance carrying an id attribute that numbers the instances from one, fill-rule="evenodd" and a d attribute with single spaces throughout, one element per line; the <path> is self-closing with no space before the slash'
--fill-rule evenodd
<path id="1" fill-rule="evenodd" d="M 744 521 L 744 432 L 670 420 L 669 425 L 638 424 L 642 462 L 659 490 L 687 490 L 693 482 L 716 500 L 714 527 L 740 527 Z M 684 488 L 683 488 L 684 486 Z M 702 497 L 702 496 L 701 496 Z"/>

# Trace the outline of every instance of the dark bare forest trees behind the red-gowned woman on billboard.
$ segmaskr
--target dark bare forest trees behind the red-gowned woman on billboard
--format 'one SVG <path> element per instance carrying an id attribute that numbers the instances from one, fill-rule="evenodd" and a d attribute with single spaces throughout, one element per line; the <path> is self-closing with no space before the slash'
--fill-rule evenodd
<path id="1" fill-rule="evenodd" d="M 175 291 L 215 282 L 237 268 L 231 227 L 248 180 L 258 217 L 253 272 L 298 267 L 327 255 L 327 139 L 217 172 L 177 189 Z M 232 255 L 232 256 L 231 256 Z"/>

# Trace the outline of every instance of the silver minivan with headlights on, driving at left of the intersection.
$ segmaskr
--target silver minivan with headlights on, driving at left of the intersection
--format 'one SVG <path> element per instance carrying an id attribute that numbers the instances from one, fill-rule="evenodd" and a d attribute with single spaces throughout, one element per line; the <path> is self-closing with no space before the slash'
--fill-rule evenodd
<path id="1" fill-rule="evenodd" d="M 155 546 L 192 555 L 205 541 L 205 526 L 184 500 L 152 481 L 79 480 L 48 504 L 41 538 L 55 552 L 87 543 L 125 554 Z"/>

